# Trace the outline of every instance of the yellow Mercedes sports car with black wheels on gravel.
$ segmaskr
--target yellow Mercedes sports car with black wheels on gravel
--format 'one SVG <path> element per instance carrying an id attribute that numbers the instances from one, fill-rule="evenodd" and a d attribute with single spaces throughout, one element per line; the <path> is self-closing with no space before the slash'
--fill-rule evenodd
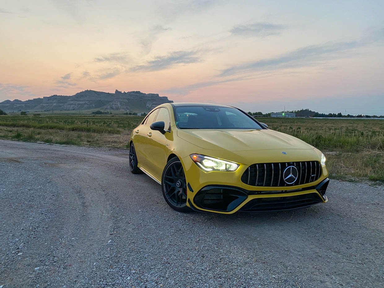
<path id="1" fill-rule="evenodd" d="M 133 129 L 129 167 L 161 184 L 180 212 L 295 209 L 328 201 L 324 155 L 244 111 L 166 103 Z"/>

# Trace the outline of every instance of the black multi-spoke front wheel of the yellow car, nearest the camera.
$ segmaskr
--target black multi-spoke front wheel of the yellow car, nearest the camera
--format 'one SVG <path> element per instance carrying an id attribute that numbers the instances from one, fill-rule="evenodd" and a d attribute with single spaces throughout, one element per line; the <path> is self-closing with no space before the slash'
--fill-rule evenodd
<path id="1" fill-rule="evenodd" d="M 179 212 L 192 211 L 187 206 L 187 182 L 183 166 L 177 157 L 170 159 L 161 177 L 161 187 L 166 202 Z"/>

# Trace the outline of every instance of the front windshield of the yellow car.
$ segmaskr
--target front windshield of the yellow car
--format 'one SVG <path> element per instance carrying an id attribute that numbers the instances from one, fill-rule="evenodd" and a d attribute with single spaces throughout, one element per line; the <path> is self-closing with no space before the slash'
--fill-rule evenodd
<path id="1" fill-rule="evenodd" d="M 253 118 L 231 107 L 175 106 L 179 129 L 263 129 Z"/>

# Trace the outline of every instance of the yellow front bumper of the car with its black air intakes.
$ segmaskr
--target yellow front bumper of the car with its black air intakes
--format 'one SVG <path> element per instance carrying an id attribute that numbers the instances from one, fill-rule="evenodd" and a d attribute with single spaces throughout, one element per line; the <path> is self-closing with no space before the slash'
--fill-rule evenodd
<path id="1" fill-rule="evenodd" d="M 202 172 L 194 163 L 184 162 L 188 182 L 187 206 L 196 211 L 233 214 L 237 211 L 290 210 L 326 203 L 328 170 L 311 183 L 290 187 L 259 187 L 241 182 L 243 169 L 235 172 Z"/>

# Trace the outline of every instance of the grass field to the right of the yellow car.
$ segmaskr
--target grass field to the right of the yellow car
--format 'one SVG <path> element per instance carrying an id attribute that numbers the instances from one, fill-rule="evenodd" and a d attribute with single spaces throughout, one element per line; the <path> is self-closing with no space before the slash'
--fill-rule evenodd
<path id="1" fill-rule="evenodd" d="M 271 129 L 298 137 L 323 151 L 331 177 L 384 182 L 383 120 L 262 118 L 263 121 Z"/>

